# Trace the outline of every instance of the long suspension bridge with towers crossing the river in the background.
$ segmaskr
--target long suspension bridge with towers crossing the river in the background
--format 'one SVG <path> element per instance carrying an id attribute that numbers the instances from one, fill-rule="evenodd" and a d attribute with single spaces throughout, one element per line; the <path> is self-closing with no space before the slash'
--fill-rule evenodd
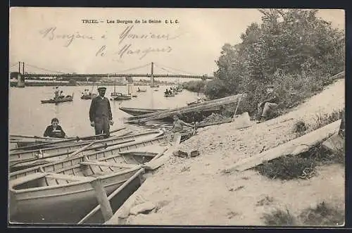
<path id="1" fill-rule="evenodd" d="M 18 63 L 13 63 L 10 65 L 10 68 L 13 68 L 18 65 L 18 74 L 22 80 L 25 80 L 26 78 L 33 78 L 33 77 L 54 77 L 54 78 L 59 78 L 59 77 L 150 77 L 151 78 L 151 85 L 154 84 L 154 78 L 156 77 L 176 77 L 176 78 L 191 78 L 191 79 L 201 79 L 201 80 L 207 80 L 207 79 L 213 79 L 213 77 L 209 77 L 208 75 L 196 75 L 196 74 L 191 74 L 187 73 L 184 70 L 179 70 L 175 68 L 170 68 L 170 67 L 165 67 L 164 65 L 156 64 L 154 62 L 151 63 L 146 63 L 145 65 L 140 65 L 135 68 L 130 68 L 127 70 L 121 70 L 116 73 L 65 73 L 61 71 L 53 71 L 53 70 L 48 70 L 46 68 L 39 68 L 37 65 L 31 65 L 28 63 L 24 62 L 18 62 Z M 30 72 L 25 72 L 25 68 L 34 68 L 36 70 L 39 70 L 39 73 L 30 73 Z M 150 73 L 130 73 L 133 70 L 138 70 L 141 68 L 150 68 Z M 21 69 L 22 68 L 22 69 Z M 156 74 L 154 73 L 155 68 L 159 68 L 160 70 L 163 71 L 163 74 L 159 73 Z M 129 73 L 127 73 L 129 72 Z M 165 73 L 166 72 L 166 73 Z M 177 73 L 178 72 L 178 73 Z M 183 74 L 180 74 L 183 73 Z"/>

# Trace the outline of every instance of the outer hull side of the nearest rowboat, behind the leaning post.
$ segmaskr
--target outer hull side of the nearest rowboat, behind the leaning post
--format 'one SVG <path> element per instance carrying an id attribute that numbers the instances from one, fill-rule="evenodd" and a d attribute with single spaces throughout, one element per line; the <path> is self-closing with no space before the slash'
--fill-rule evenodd
<path id="1" fill-rule="evenodd" d="M 122 175 L 102 178 L 101 184 L 107 196 L 132 177 L 137 170 L 136 166 L 135 169 Z M 77 223 L 99 204 L 89 182 L 12 194 L 10 199 L 11 222 Z"/>

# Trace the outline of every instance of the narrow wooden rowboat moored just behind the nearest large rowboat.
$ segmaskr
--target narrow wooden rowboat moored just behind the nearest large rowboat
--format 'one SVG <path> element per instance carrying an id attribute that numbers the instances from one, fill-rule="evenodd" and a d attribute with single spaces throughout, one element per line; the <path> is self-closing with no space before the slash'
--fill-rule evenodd
<path id="1" fill-rule="evenodd" d="M 111 137 L 108 139 L 99 140 L 94 146 L 82 151 L 82 154 L 91 153 L 98 149 L 106 149 L 108 146 L 123 145 L 129 142 L 144 141 L 147 139 L 153 139 L 163 134 L 161 130 L 152 130 L 149 132 L 142 132 L 140 134 L 132 134 L 123 137 Z M 70 153 L 73 153 L 77 149 L 81 149 L 83 146 L 91 143 L 92 141 L 82 141 L 81 143 L 70 144 L 66 146 L 57 146 L 47 149 L 35 149 L 30 151 L 15 151 L 9 155 L 10 170 L 22 170 L 30 168 L 35 165 L 42 165 L 50 163 L 54 160 L 60 160 L 67 158 Z"/>

